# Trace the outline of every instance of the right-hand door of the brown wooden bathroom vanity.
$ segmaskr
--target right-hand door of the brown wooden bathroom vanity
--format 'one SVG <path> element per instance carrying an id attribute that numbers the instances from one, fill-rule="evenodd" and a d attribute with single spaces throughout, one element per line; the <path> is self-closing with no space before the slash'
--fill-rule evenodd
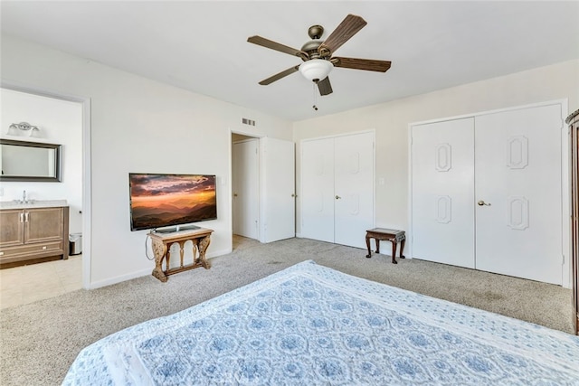
<path id="1" fill-rule="evenodd" d="M 64 210 L 59 208 L 27 209 L 24 212 L 24 242 L 62 240 Z"/>

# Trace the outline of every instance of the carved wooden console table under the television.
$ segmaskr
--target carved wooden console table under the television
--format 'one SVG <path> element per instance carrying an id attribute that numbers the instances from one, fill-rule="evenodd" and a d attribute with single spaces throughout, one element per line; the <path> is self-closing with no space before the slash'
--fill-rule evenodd
<path id="1" fill-rule="evenodd" d="M 199 228 L 195 230 L 175 231 L 171 233 L 151 232 L 148 235 L 153 241 L 153 253 L 155 254 L 155 269 L 152 275 L 162 282 L 166 282 L 169 275 L 183 272 L 188 269 L 203 267 L 211 268 L 205 259 L 205 250 L 211 242 L 212 230 Z M 193 242 L 193 263 L 184 265 L 185 242 Z M 176 268 L 169 268 L 171 260 L 171 245 L 178 242 L 180 247 L 181 264 Z M 165 260 L 165 269 L 163 269 Z"/>

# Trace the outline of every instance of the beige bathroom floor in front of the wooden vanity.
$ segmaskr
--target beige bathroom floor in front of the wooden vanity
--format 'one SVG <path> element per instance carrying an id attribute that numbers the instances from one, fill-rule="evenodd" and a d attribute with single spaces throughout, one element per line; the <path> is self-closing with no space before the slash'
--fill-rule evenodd
<path id="1" fill-rule="evenodd" d="M 32 303 L 82 288 L 82 255 L 0 269 L 0 309 Z"/>

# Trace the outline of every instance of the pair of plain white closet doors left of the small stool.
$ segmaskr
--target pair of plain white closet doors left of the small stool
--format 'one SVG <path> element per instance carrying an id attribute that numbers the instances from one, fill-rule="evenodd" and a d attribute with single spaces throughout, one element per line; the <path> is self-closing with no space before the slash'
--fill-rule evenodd
<path id="1" fill-rule="evenodd" d="M 303 141 L 301 235 L 365 248 L 374 226 L 374 133 Z"/>

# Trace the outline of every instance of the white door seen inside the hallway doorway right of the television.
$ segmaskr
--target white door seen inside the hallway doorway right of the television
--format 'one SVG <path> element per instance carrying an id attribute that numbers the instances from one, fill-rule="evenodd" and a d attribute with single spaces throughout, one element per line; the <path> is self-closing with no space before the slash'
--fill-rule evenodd
<path id="1" fill-rule="evenodd" d="M 258 140 L 236 142 L 232 151 L 233 233 L 259 238 Z"/>

